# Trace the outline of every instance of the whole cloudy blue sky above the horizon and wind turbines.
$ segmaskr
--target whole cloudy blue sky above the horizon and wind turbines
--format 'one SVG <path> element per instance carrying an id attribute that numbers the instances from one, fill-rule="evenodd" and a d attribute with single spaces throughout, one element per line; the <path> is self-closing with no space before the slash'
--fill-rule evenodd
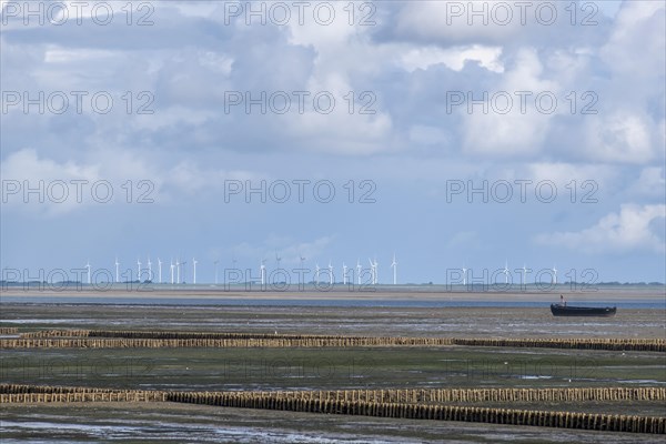
<path id="1" fill-rule="evenodd" d="M 663 1 L 0 4 L 2 279 L 666 281 Z"/>

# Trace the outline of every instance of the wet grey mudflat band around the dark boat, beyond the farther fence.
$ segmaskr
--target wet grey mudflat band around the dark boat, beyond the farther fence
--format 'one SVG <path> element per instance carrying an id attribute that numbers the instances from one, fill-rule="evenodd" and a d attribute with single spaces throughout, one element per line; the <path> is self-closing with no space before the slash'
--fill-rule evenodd
<path id="1" fill-rule="evenodd" d="M 537 307 L 105 305 L 3 303 L 2 326 L 451 337 L 665 337 L 663 311 L 555 317 Z"/>

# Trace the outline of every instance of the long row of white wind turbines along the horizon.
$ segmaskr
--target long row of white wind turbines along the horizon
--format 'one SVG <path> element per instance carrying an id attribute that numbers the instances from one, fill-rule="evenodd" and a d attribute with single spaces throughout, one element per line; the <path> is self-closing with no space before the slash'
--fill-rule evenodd
<path id="1" fill-rule="evenodd" d="M 363 262 L 361 261 L 361 259 L 359 258 L 356 260 L 356 264 L 355 266 L 349 266 L 346 264 L 346 262 L 342 262 L 342 266 L 340 269 L 336 269 L 333 265 L 333 261 L 329 261 L 327 266 L 320 266 L 319 262 L 314 262 L 314 268 L 307 268 L 305 264 L 306 258 L 304 258 L 303 255 L 299 255 L 299 261 L 300 261 L 300 268 L 299 269 L 293 269 L 291 270 L 292 272 L 296 272 L 297 274 L 304 275 L 306 273 L 311 273 L 311 279 L 310 279 L 310 283 L 329 283 L 330 285 L 334 285 L 335 283 L 342 283 L 343 285 L 347 285 L 347 284 L 354 284 L 357 283 L 359 285 L 361 284 L 372 284 L 372 285 L 377 285 L 380 284 L 380 263 L 377 262 L 376 258 L 375 259 L 367 259 L 367 265 L 363 265 Z M 135 262 L 135 275 L 134 275 L 134 271 L 132 271 L 132 268 L 134 264 L 132 264 L 132 268 L 125 269 L 123 270 L 123 272 L 121 273 L 121 263 L 119 262 L 118 258 L 115 258 L 114 261 L 114 266 L 115 266 L 115 273 L 113 276 L 113 280 L 115 283 L 120 283 L 120 282 L 151 282 L 151 283 L 159 283 L 159 284 L 186 284 L 186 273 L 188 270 L 191 270 L 192 272 L 192 281 L 191 284 L 196 284 L 196 265 L 199 264 L 200 261 L 198 261 L 195 258 L 192 258 L 191 262 L 188 261 L 182 261 L 180 258 L 173 260 L 171 259 L 169 261 L 169 263 L 163 262 L 160 258 L 158 258 L 157 263 L 152 262 L 150 256 L 148 256 L 145 262 L 142 262 L 141 259 L 137 259 Z M 212 261 L 212 265 L 214 266 L 214 283 L 215 285 L 220 283 L 220 270 L 219 270 L 219 260 Z M 234 259 L 232 260 L 232 268 L 231 269 L 225 269 L 224 270 L 224 276 L 226 276 L 226 273 L 230 270 L 239 270 L 236 268 L 236 263 L 238 261 Z M 282 266 L 282 258 L 275 253 L 275 261 L 274 263 L 272 263 L 272 265 L 268 265 L 266 264 L 268 261 L 265 259 L 261 259 L 259 262 L 259 266 L 256 269 L 251 269 L 250 271 L 252 272 L 258 272 L 258 274 L 252 279 L 253 281 L 255 281 L 258 284 L 261 285 L 266 285 L 269 282 L 280 282 L 276 281 L 276 279 L 279 279 L 281 275 L 284 276 L 286 273 L 290 272 L 290 270 L 283 269 Z M 293 263 L 293 261 L 292 261 Z M 393 285 L 398 285 L 398 276 L 397 276 L 397 261 L 396 261 L 396 256 L 395 254 L 393 254 L 393 260 L 391 262 L 391 264 L 389 265 L 390 270 L 391 270 L 391 281 L 390 282 L 383 282 L 383 284 L 393 284 Z M 153 269 L 153 265 L 154 266 Z M 163 265 L 165 265 L 165 270 L 163 270 Z M 190 265 L 190 266 L 188 266 Z M 85 276 L 87 276 L 87 281 L 88 284 L 91 284 L 93 281 L 93 274 L 94 272 L 92 272 L 92 265 L 90 264 L 90 261 L 87 262 L 87 264 L 84 265 L 85 268 Z M 163 273 L 164 271 L 164 273 Z M 337 272 L 342 272 L 341 274 L 337 274 Z M 522 285 L 525 285 L 527 283 L 527 275 L 528 273 L 531 273 L 533 270 L 528 269 L 526 264 L 523 264 L 523 268 L 519 269 L 515 269 L 514 272 L 516 272 L 517 274 L 519 274 L 519 283 Z M 542 269 L 539 270 L 538 274 L 541 275 L 539 279 L 542 279 L 541 282 L 543 282 L 544 279 L 544 274 L 545 274 L 545 279 L 546 281 L 549 281 L 551 284 L 557 284 L 557 269 L 555 268 L 555 265 L 553 265 L 552 269 Z M 337 276 L 337 279 L 336 279 Z M 503 279 L 502 279 L 503 276 Z M 109 276 L 110 278 L 110 276 Z M 484 279 L 486 279 L 486 273 L 484 271 Z M 502 281 L 504 281 L 505 285 L 508 285 L 509 283 L 513 283 L 513 274 L 512 271 L 508 268 L 508 262 L 505 262 L 504 268 L 498 268 L 496 270 L 493 271 L 493 279 L 494 279 L 494 283 L 495 284 L 501 284 Z M 446 273 L 446 282 L 451 283 L 451 281 L 454 281 L 454 283 L 457 284 L 462 284 L 462 285 L 467 285 L 468 283 L 474 283 L 475 281 L 478 281 L 478 276 L 476 276 L 474 274 L 474 270 L 472 268 L 467 268 L 466 265 L 463 265 L 460 269 L 450 269 L 447 270 Z M 487 279 L 486 279 L 487 281 Z M 202 283 L 202 282 L 200 282 Z M 211 282 L 203 282 L 203 283 L 211 283 Z"/>

